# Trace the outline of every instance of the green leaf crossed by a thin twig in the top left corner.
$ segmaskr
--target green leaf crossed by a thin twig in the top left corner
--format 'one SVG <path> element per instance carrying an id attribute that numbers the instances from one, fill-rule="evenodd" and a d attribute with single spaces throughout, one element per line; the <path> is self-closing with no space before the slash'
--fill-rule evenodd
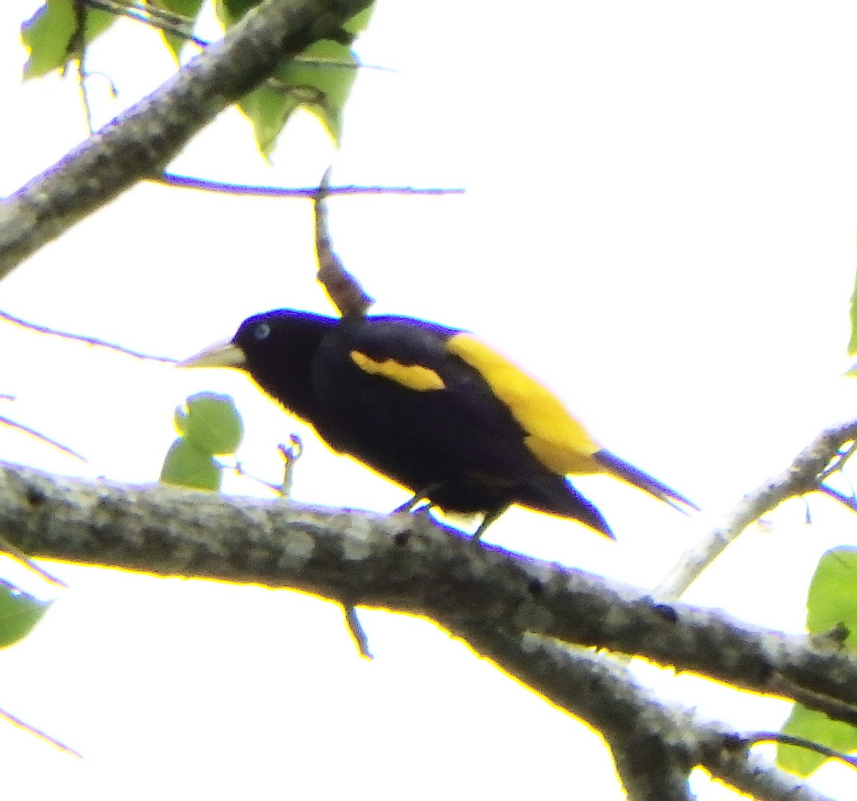
<path id="1" fill-rule="evenodd" d="M 29 20 L 21 24 L 21 41 L 30 51 L 24 64 L 24 78 L 38 78 L 54 69 L 63 69 L 78 56 L 77 50 L 104 33 L 116 15 L 101 9 L 84 9 L 81 43 L 75 43 L 78 16 L 73 0 L 48 0 Z"/>

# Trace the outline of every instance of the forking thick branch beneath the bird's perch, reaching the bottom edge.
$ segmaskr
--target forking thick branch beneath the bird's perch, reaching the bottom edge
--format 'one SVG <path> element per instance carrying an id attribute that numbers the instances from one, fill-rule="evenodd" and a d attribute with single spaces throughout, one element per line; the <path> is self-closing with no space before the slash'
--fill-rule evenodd
<path id="1" fill-rule="evenodd" d="M 602 653 L 497 629 L 474 628 L 461 635 L 478 653 L 601 732 L 632 801 L 692 798 L 687 779 L 698 766 L 753 798 L 826 798 L 750 756 L 752 743 L 727 726 L 665 704 L 625 665 Z"/>

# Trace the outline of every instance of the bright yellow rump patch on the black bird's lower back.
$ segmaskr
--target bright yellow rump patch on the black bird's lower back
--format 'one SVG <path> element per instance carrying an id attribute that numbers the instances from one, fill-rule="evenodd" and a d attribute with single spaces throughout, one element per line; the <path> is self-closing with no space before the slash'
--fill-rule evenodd
<path id="1" fill-rule="evenodd" d="M 548 470 L 561 475 L 603 472 L 592 459 L 601 446 L 549 389 L 472 334 L 455 334 L 446 347 L 488 382 L 527 432 L 524 444 Z"/>

